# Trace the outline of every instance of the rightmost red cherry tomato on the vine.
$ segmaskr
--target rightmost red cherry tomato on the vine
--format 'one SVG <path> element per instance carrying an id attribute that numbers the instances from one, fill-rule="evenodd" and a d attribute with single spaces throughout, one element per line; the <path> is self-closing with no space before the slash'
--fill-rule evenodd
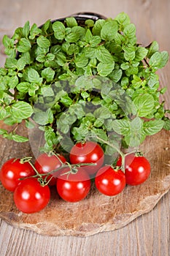
<path id="1" fill-rule="evenodd" d="M 121 157 L 117 166 L 121 166 Z M 150 162 L 142 156 L 128 154 L 125 156 L 125 180 L 126 184 L 136 186 L 142 184 L 150 176 Z"/>

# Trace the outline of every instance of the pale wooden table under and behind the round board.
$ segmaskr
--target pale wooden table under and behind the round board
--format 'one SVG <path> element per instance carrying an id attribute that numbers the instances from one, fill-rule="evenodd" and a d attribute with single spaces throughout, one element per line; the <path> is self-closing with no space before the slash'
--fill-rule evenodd
<path id="1" fill-rule="evenodd" d="M 71 15 L 75 12 L 97 12 L 114 18 L 126 12 L 136 25 L 138 42 L 148 45 L 158 41 L 161 50 L 170 52 L 169 0 L 0 0 L 0 66 L 5 56 L 1 39 L 12 35 L 26 20 L 38 25 L 47 19 Z M 166 108 L 170 108 L 170 63 L 159 72 L 161 86 L 167 86 Z M 102 213 L 101 213 L 102 214 Z M 36 255 L 170 255 L 170 192 L 164 195 L 148 214 L 138 217 L 120 230 L 98 233 L 85 238 L 72 236 L 40 236 L 20 230 L 0 219 L 0 256 Z"/>

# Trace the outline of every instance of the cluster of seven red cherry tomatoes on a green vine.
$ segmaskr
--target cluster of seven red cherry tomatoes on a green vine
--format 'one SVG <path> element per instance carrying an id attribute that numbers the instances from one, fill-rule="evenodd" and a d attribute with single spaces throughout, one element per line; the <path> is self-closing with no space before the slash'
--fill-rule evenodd
<path id="1" fill-rule="evenodd" d="M 69 162 L 61 154 L 42 153 L 34 165 L 28 158 L 12 158 L 0 170 L 1 184 L 14 193 L 15 205 L 27 214 L 47 206 L 51 186 L 63 200 L 78 202 L 88 195 L 92 181 L 102 194 L 115 196 L 126 184 L 142 184 L 149 176 L 150 162 L 134 153 L 121 153 L 116 167 L 104 165 L 104 151 L 93 141 L 75 144 Z"/>

